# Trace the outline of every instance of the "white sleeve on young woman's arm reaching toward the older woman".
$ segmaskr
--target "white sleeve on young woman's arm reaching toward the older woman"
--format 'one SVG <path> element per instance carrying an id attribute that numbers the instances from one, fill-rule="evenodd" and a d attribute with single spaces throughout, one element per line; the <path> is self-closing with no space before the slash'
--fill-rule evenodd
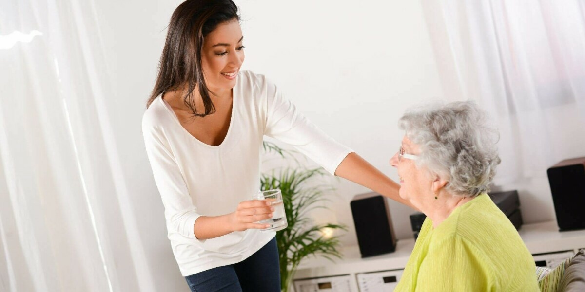
<path id="1" fill-rule="evenodd" d="M 326 135 L 284 98 L 276 85 L 265 80 L 267 105 L 264 134 L 292 145 L 302 154 L 335 175 L 335 170 L 353 152 Z"/>

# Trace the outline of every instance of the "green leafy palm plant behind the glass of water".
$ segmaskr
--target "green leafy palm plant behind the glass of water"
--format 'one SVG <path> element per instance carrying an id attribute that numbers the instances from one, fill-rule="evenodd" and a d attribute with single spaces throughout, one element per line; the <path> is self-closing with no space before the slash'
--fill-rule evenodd
<path id="1" fill-rule="evenodd" d="M 266 152 L 276 152 L 280 157 L 287 154 L 294 158 L 291 151 L 283 150 L 277 145 L 264 142 Z M 297 161 L 295 159 L 295 161 Z M 280 253 L 280 288 L 287 292 L 292 277 L 301 260 L 307 256 L 323 256 L 329 260 L 341 258 L 338 251 L 339 235 L 325 237 L 323 231 L 344 230 L 340 224 L 314 224 L 307 213 L 315 208 L 323 207 L 327 201 L 325 192 L 332 190 L 324 185 L 312 186 L 310 180 L 324 175 L 321 168 L 307 169 L 297 161 L 298 167 L 286 167 L 264 173 L 261 177 L 261 190 L 280 189 L 283 194 L 284 210 L 287 215 L 288 227 L 276 233 L 278 253 Z"/>

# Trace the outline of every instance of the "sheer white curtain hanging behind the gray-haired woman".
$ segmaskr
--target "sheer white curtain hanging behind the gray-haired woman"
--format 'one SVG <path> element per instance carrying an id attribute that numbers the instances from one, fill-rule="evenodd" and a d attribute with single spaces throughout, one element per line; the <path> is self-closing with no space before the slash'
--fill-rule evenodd
<path id="1" fill-rule="evenodd" d="M 445 95 L 476 100 L 497 122 L 497 183 L 585 156 L 585 1 L 423 7 Z"/>

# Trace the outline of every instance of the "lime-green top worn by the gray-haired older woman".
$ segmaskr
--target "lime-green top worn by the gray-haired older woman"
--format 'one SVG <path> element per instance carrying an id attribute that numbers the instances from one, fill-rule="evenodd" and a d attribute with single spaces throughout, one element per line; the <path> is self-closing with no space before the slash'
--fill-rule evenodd
<path id="1" fill-rule="evenodd" d="M 540 291 L 531 253 L 487 194 L 432 225 L 427 217 L 394 291 Z"/>

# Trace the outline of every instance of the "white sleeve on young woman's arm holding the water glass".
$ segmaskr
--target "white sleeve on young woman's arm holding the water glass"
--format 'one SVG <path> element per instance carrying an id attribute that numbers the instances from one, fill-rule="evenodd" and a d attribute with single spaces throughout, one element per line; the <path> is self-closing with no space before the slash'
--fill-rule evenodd
<path id="1" fill-rule="evenodd" d="M 169 237 L 178 234 L 197 239 L 193 228 L 195 220 L 201 215 L 197 213 L 180 168 L 164 138 L 163 130 L 143 120 L 142 133 L 154 182 L 163 200 Z M 203 243 L 204 240 L 199 242 Z"/>

